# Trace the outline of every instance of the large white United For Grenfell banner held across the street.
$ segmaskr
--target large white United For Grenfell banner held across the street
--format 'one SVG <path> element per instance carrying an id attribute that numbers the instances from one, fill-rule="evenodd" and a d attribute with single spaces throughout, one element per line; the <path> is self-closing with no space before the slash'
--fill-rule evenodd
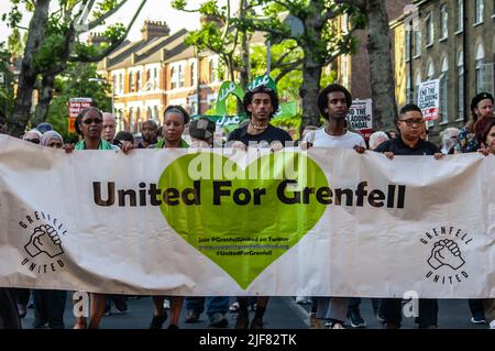
<path id="1" fill-rule="evenodd" d="M 0 286 L 495 297 L 495 157 L 223 152 L 0 135 Z"/>

